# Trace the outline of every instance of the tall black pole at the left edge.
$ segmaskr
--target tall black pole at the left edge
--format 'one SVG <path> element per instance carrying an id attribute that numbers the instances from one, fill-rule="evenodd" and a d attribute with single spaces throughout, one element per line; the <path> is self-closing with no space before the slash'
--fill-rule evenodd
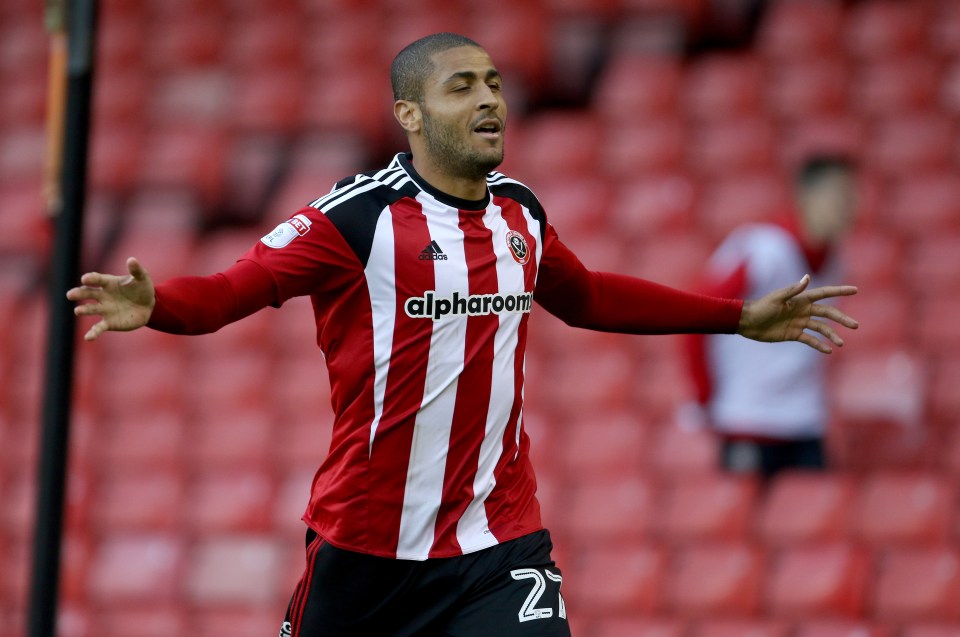
<path id="1" fill-rule="evenodd" d="M 67 13 L 67 104 L 63 168 L 60 177 L 63 207 L 56 217 L 50 268 L 50 325 L 37 480 L 33 572 L 27 618 L 29 637 L 54 637 L 56 634 L 76 334 L 73 307 L 65 294 L 76 284 L 80 275 L 96 0 L 71 0 Z"/>

